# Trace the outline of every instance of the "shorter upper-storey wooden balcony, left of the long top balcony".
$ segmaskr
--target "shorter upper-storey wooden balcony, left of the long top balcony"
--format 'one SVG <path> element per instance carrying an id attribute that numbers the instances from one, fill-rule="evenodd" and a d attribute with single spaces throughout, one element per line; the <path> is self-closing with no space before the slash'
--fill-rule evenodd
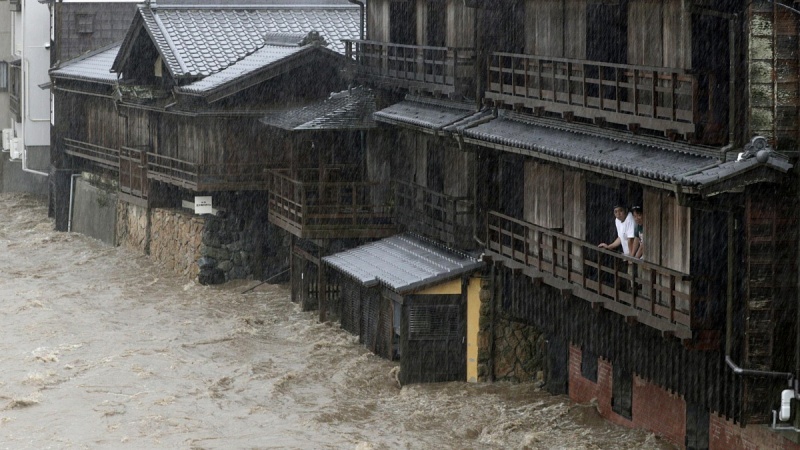
<path id="1" fill-rule="evenodd" d="M 355 59 L 357 74 L 380 87 L 433 95 L 472 96 L 475 50 L 388 42 L 345 40 L 345 52 Z"/>

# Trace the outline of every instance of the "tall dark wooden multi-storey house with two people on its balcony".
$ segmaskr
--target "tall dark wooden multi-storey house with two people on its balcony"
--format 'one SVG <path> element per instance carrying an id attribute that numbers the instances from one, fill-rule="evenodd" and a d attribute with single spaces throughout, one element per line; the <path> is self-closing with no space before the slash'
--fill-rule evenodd
<path id="1" fill-rule="evenodd" d="M 671 0 L 375 0 L 366 16 L 348 53 L 381 106 L 367 154 L 474 205 L 469 242 L 428 238 L 488 263 L 481 376 L 531 377 L 498 350 L 523 323 L 548 387 L 610 420 L 686 448 L 790 446 L 743 427 L 797 429 L 778 411 L 800 374 L 800 17 Z M 598 247 L 615 205 L 643 207 L 641 259 Z"/>

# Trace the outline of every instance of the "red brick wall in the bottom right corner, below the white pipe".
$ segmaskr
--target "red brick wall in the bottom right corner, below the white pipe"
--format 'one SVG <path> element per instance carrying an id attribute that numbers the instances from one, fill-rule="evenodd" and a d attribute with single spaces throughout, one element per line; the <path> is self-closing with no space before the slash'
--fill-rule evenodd
<path id="1" fill-rule="evenodd" d="M 709 418 L 709 450 L 800 450 L 800 445 L 770 430 L 766 425 L 745 428 L 715 414 Z"/>

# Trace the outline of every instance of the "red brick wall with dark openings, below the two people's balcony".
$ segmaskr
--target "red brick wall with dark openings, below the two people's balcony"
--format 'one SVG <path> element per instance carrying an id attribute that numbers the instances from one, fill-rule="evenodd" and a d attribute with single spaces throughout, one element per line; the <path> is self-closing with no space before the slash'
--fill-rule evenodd
<path id="1" fill-rule="evenodd" d="M 633 377 L 631 419 L 611 409 L 613 367 L 601 359 L 597 363 L 597 382 L 581 375 L 581 350 L 569 349 L 569 397 L 578 403 L 595 402 L 606 420 L 618 425 L 642 428 L 683 448 L 686 435 L 686 402 L 677 395 L 637 376 Z"/>

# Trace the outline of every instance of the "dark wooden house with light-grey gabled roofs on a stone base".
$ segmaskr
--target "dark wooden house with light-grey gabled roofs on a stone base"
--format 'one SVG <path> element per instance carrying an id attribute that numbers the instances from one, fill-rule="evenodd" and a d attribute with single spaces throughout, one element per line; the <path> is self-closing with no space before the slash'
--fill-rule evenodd
<path id="1" fill-rule="evenodd" d="M 209 281 L 280 272 L 285 235 L 254 206 L 273 170 L 289 167 L 290 144 L 258 120 L 348 86 L 340 40 L 358 36 L 358 13 L 354 5 L 141 5 L 121 43 L 54 68 L 58 151 L 65 167 L 116 189 L 117 240 L 181 253 L 180 269 L 194 266 L 188 273 L 203 261 Z M 222 211 L 205 226 L 223 230 L 200 234 L 225 239 L 161 248 L 154 242 L 171 233 L 169 220 L 138 224 L 153 208 L 180 210 L 195 197 Z M 191 228 L 193 219 L 175 220 Z"/>

